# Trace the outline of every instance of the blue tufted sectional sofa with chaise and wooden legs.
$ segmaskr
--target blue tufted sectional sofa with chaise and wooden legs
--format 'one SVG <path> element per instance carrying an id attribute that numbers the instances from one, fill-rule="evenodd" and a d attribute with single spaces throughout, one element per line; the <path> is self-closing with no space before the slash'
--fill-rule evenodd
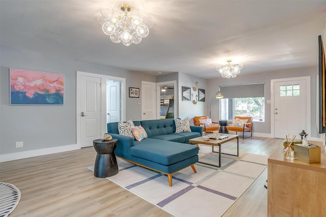
<path id="1" fill-rule="evenodd" d="M 142 126 L 148 138 L 142 141 L 120 135 L 118 122 L 107 123 L 107 133 L 118 139 L 116 156 L 168 176 L 172 186 L 172 175 L 179 170 L 192 167 L 196 173 L 198 147 L 188 140 L 201 137 L 201 126 L 190 126 L 192 132 L 175 133 L 174 119 L 133 121 L 135 126 Z"/>

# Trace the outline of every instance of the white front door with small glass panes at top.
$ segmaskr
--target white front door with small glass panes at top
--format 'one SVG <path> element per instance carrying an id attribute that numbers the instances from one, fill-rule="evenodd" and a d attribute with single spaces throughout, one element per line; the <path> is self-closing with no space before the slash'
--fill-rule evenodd
<path id="1" fill-rule="evenodd" d="M 310 80 L 309 80 L 310 82 Z M 307 129 L 307 80 L 285 80 L 274 83 L 274 137 L 292 138 Z M 309 105 L 310 111 L 310 105 Z"/>

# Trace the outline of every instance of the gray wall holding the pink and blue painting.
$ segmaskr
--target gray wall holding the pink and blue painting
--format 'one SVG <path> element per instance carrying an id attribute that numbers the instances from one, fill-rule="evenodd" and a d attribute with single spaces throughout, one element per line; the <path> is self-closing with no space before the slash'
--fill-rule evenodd
<path id="1" fill-rule="evenodd" d="M 64 105 L 9 105 L 10 67 L 64 74 Z M 156 81 L 156 76 L 1 46 L 0 154 L 76 144 L 76 71 L 124 77 L 125 93 L 141 88 L 142 80 Z M 126 97 L 126 119 L 141 120 L 137 101 L 141 98 Z M 19 141 L 24 147 L 15 148 Z"/>

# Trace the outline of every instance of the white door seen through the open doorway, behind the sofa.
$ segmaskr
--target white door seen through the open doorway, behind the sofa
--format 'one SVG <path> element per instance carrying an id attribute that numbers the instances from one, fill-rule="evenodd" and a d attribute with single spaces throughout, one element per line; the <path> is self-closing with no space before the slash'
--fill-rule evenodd
<path id="1" fill-rule="evenodd" d="M 106 122 L 118 122 L 121 120 L 121 91 L 120 82 L 116 80 L 106 81 Z"/>

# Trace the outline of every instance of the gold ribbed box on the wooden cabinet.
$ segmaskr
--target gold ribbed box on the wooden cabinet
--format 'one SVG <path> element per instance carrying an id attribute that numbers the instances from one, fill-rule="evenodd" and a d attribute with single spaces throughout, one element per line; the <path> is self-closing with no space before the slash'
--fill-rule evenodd
<path id="1" fill-rule="evenodd" d="M 308 144 L 308 147 L 294 144 L 294 157 L 308 164 L 320 162 L 320 147 L 312 144 Z"/>

